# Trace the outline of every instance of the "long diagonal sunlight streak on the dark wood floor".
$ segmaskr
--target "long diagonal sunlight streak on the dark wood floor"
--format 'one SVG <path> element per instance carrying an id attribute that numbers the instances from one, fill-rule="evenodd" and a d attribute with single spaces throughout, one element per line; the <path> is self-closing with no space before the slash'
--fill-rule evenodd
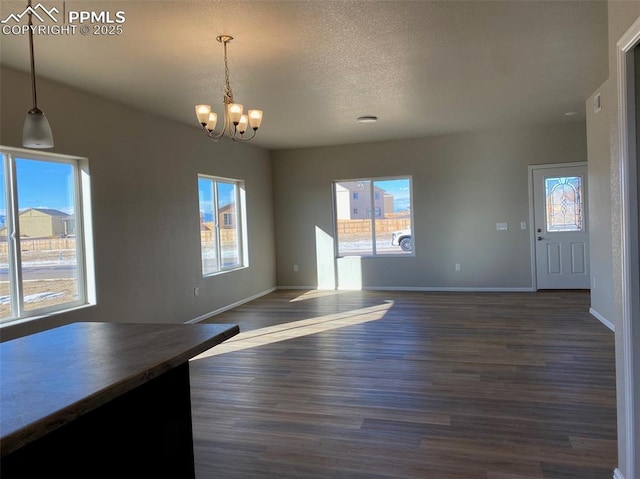
<path id="1" fill-rule="evenodd" d="M 290 323 L 254 329 L 244 333 L 241 332 L 233 338 L 195 356 L 191 361 L 375 321 L 383 318 L 387 311 L 393 307 L 393 303 L 393 301 L 386 301 L 384 304 L 369 306 L 368 308 L 353 309 L 345 311 L 344 313 L 328 314 L 316 318 L 301 319 Z"/>

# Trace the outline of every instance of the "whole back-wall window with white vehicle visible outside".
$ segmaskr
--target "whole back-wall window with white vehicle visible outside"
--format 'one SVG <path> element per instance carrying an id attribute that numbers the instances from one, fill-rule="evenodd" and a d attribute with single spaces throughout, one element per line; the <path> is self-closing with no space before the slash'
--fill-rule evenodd
<path id="1" fill-rule="evenodd" d="M 335 181 L 333 194 L 339 256 L 412 254 L 411 178 Z"/>

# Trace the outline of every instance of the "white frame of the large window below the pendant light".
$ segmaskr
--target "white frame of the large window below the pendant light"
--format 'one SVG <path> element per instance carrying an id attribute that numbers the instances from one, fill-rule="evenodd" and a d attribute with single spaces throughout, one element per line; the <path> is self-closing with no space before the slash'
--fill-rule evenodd
<path id="1" fill-rule="evenodd" d="M 25 310 L 20 248 L 20 211 L 18 204 L 17 159 L 66 164 L 72 167 L 73 203 L 76 240 L 76 269 L 78 299 L 66 303 Z M 91 181 L 89 160 L 84 157 L 62 155 L 0 145 L 0 161 L 4 168 L 5 227 L 7 229 L 7 262 L 11 314 L 0 318 L 0 327 L 44 316 L 60 314 L 96 304 L 93 227 L 91 221 Z"/>

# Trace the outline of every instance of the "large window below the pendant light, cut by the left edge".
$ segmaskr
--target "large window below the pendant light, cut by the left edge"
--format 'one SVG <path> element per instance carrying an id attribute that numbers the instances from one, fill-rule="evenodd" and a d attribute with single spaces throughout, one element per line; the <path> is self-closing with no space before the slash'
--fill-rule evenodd
<path id="1" fill-rule="evenodd" d="M 0 157 L 0 321 L 94 301 L 88 161 L 5 147 Z"/>

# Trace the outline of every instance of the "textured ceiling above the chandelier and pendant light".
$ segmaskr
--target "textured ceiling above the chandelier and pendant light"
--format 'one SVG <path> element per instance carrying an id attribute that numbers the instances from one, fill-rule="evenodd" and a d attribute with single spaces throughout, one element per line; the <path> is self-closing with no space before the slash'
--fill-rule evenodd
<path id="1" fill-rule="evenodd" d="M 605 1 L 42 3 L 126 21 L 121 35 L 36 35 L 39 75 L 194 128 L 196 103 L 221 111 L 215 38 L 234 36 L 231 87 L 245 109 L 264 110 L 253 143 L 267 148 L 584 120 L 608 75 Z M 25 6 L 2 0 L 0 17 Z M 28 71 L 28 52 L 26 35 L 2 34 L 3 65 Z"/>

